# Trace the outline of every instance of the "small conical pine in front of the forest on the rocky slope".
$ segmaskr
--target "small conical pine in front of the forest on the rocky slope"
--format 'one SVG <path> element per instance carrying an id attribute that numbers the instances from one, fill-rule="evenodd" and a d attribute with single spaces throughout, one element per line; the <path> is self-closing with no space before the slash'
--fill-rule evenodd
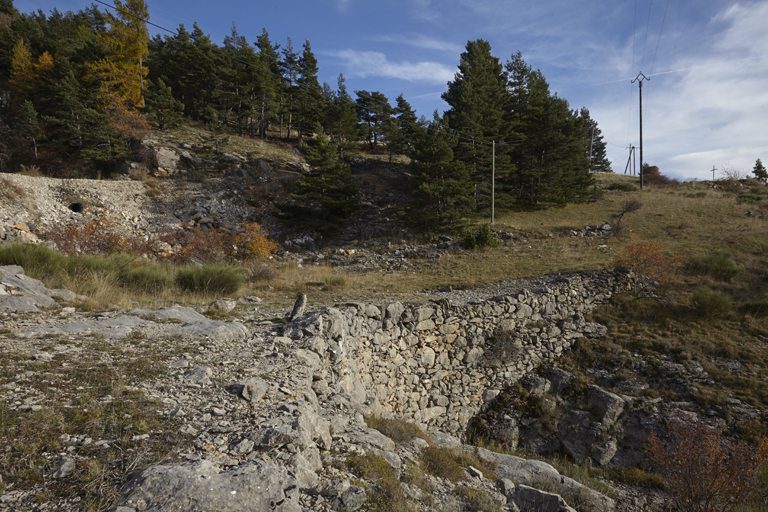
<path id="1" fill-rule="evenodd" d="M 289 223 L 328 235 L 359 210 L 357 187 L 322 126 L 318 125 L 312 143 L 301 148 L 312 170 L 297 182 L 293 202 L 280 209 Z"/>

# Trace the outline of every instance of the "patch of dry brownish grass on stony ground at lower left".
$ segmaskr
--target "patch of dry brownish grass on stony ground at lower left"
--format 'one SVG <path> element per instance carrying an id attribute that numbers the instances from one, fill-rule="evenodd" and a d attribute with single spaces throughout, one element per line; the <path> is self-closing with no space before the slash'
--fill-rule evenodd
<path id="1" fill-rule="evenodd" d="M 34 371 L 37 378 L 26 386 L 44 404 L 38 411 L 22 411 L 0 403 L 5 448 L 0 453 L 0 491 L 38 487 L 43 489 L 39 501 L 77 497 L 81 510 L 106 510 L 134 470 L 175 460 L 174 451 L 189 441 L 177 433 L 177 421 L 157 414 L 161 404 L 132 387 L 159 375 L 167 355 L 131 356 L 97 337 L 80 343 L 88 350 L 73 358 L 29 364 L 26 357 L 6 354 L 0 362 L 0 385 L 14 382 L 20 367 Z M 102 362 L 107 354 L 112 363 Z M 134 439 L 150 432 L 146 440 Z M 100 439 L 109 445 L 93 444 Z M 77 465 L 70 477 L 52 480 L 60 461 L 51 454 L 61 452 L 77 456 Z"/>

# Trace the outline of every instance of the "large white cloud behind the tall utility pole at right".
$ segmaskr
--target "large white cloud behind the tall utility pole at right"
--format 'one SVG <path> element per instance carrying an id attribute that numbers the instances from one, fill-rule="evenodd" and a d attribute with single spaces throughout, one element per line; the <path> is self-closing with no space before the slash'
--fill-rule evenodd
<path id="1" fill-rule="evenodd" d="M 711 44 L 657 60 L 660 72 L 643 88 L 646 161 L 670 176 L 711 179 L 712 166 L 720 169 L 728 162 L 747 171 L 768 154 L 768 33 L 761 26 L 767 18 L 768 4 L 734 4 L 708 25 L 665 34 L 667 48 L 702 29 Z M 637 84 L 633 87 L 629 131 L 637 144 Z M 623 142 L 628 132 L 629 94 L 621 89 L 623 94 L 593 110 L 612 142 Z M 609 154 L 614 170 L 621 172 L 626 151 L 614 147 Z"/>

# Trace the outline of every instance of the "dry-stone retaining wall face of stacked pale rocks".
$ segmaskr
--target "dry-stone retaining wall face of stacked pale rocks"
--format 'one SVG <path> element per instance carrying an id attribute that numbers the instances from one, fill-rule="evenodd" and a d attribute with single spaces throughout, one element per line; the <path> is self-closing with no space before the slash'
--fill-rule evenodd
<path id="1" fill-rule="evenodd" d="M 463 433 L 502 389 L 576 339 L 604 334 L 583 315 L 634 279 L 584 272 L 465 305 L 338 304 L 286 324 L 283 336 L 298 342 L 316 394 L 344 390 L 371 414 Z"/>

